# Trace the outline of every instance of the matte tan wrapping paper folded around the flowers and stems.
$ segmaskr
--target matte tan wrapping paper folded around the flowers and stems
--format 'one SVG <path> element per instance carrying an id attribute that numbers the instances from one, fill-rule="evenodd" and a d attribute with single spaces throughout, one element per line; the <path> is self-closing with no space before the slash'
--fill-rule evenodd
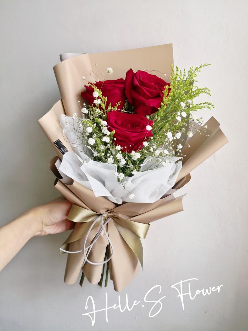
<path id="1" fill-rule="evenodd" d="M 85 82 L 82 76 L 90 80 L 93 71 L 104 72 L 109 66 L 114 68 L 111 79 L 125 78 L 125 73 L 129 68 L 136 70 L 158 70 L 170 76 L 170 65 L 173 63 L 172 44 L 160 45 L 133 50 L 107 52 L 98 54 L 82 54 L 69 58 L 54 67 L 55 76 L 58 82 L 62 100 L 58 101 L 53 108 L 44 115 L 38 122 L 53 145 L 58 157 L 62 159 L 63 154 L 55 146 L 54 142 L 61 140 L 67 150 L 72 150 L 70 144 L 65 141 L 60 126 L 60 114 L 72 116 L 73 113 L 79 113 L 78 100 L 82 101 L 81 92 Z M 97 64 L 97 67 L 95 67 Z M 156 73 L 157 74 L 157 73 Z M 164 78 L 164 77 L 163 77 Z M 169 81 L 169 79 L 166 79 Z M 200 165 L 203 161 L 214 154 L 218 149 L 225 145 L 228 140 L 220 129 L 220 124 L 215 118 L 210 118 L 206 123 L 208 125 L 207 135 L 201 135 L 196 132 L 185 144 L 182 153 L 186 154 L 183 159 L 183 166 L 177 178 L 173 192 L 183 187 L 189 180 L 189 172 Z M 74 205 L 95 213 L 102 214 L 106 211 L 119 215 L 120 217 L 130 219 L 134 222 L 148 224 L 157 219 L 183 211 L 183 196 L 175 198 L 172 194 L 159 199 L 158 201 L 148 203 L 123 203 L 116 206 L 104 197 L 96 197 L 94 192 L 85 186 L 72 181 L 71 185 L 62 183 L 58 171 L 56 171 L 57 158 L 50 162 L 50 168 L 58 177 L 55 181 L 55 187 L 59 192 Z M 79 237 L 80 228 L 83 223 L 76 223 L 74 230 L 69 236 L 69 251 L 82 250 L 84 237 Z M 107 224 L 107 232 L 111 238 L 113 256 L 110 260 L 110 278 L 113 280 L 114 289 L 121 291 L 137 275 L 140 270 L 140 262 L 127 242 L 123 239 L 118 230 L 116 222 L 111 220 Z M 100 227 L 94 228 L 88 237 L 87 245 L 94 238 Z M 89 260 L 101 262 L 104 259 L 105 248 L 108 240 L 105 235 L 101 236 L 94 244 Z M 64 282 L 74 284 L 82 269 L 84 256 L 83 253 L 68 254 L 65 268 Z M 92 265 L 88 262 L 83 267 L 83 272 L 87 279 L 96 284 L 99 282 L 102 273 L 102 265 Z"/>

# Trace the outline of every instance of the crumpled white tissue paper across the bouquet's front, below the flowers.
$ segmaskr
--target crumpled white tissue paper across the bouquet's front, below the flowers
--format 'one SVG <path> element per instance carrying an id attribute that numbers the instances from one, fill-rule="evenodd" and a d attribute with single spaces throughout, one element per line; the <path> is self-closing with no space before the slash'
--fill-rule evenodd
<path id="1" fill-rule="evenodd" d="M 72 151 L 64 154 L 61 164 L 57 164 L 62 176 L 66 175 L 93 190 L 96 197 L 103 196 L 117 204 L 123 201 L 157 201 L 175 185 L 182 168 L 181 161 L 175 163 L 179 158 L 171 158 L 171 162 L 165 166 L 160 164 L 156 169 L 138 172 L 118 182 L 114 174 L 117 171 L 116 165 L 93 161 L 83 152 L 80 154 L 81 157 Z M 148 167 L 148 162 L 144 164 Z M 130 194 L 135 195 L 133 199 L 129 198 Z"/>

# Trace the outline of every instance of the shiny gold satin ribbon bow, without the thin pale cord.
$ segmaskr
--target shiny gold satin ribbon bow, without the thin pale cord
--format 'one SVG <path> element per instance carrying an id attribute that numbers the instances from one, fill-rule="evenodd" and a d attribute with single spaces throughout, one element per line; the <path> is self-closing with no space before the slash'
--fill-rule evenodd
<path id="1" fill-rule="evenodd" d="M 143 267 L 143 247 L 140 239 L 145 239 L 150 224 L 138 223 L 130 219 L 125 219 L 116 215 L 114 212 L 112 213 L 111 211 L 104 214 L 105 219 L 107 219 L 108 217 L 112 218 L 116 229 L 118 230 L 122 238 L 125 240 L 127 245 L 137 256 L 138 260 L 141 263 L 141 266 Z M 101 214 L 95 213 L 91 210 L 72 205 L 67 219 L 76 223 L 82 223 L 82 225 L 71 232 L 71 234 L 65 240 L 61 248 L 68 251 L 69 244 L 84 237 L 87 234 L 94 220 L 100 215 Z M 100 224 L 101 219 L 99 219 L 94 224 L 92 229 L 100 226 Z M 63 254 L 63 252 L 60 251 L 60 254 Z"/>

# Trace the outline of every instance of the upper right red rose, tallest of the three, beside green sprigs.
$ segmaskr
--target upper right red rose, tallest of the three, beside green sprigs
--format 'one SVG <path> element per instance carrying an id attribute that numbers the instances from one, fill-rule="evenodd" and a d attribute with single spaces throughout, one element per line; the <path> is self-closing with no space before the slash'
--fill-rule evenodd
<path id="1" fill-rule="evenodd" d="M 128 101 L 135 106 L 134 112 L 143 115 L 155 113 L 162 102 L 165 85 L 170 86 L 163 79 L 146 71 L 127 71 L 125 93 Z"/>

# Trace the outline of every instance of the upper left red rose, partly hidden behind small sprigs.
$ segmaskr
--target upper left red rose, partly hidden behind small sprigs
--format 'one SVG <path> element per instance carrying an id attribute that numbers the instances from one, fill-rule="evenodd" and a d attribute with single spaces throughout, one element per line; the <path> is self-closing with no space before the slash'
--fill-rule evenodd
<path id="1" fill-rule="evenodd" d="M 111 102 L 111 106 L 114 107 L 119 101 L 121 102 L 118 106 L 119 109 L 122 109 L 125 101 L 125 80 L 115 79 L 115 80 L 105 80 L 104 82 L 96 82 L 94 85 L 102 91 L 102 94 L 104 97 L 107 97 L 107 104 L 106 107 L 109 106 L 109 103 Z M 93 87 L 85 85 L 86 91 L 82 92 L 82 97 L 89 102 L 90 105 L 93 104 L 93 101 L 95 98 L 93 97 L 92 93 L 94 92 Z"/>

